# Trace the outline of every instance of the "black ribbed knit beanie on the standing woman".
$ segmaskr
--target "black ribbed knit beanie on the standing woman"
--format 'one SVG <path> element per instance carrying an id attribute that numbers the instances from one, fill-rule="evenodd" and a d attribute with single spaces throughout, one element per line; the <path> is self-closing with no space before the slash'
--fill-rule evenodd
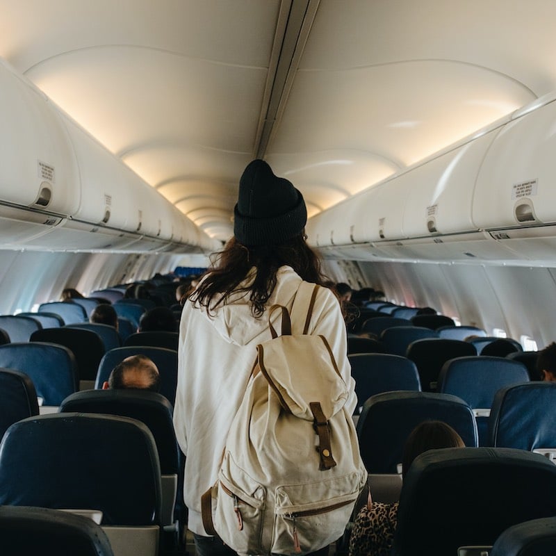
<path id="1" fill-rule="evenodd" d="M 281 245 L 300 236 L 307 209 L 300 191 L 279 178 L 265 161 L 250 162 L 239 181 L 234 236 L 243 245 Z"/>

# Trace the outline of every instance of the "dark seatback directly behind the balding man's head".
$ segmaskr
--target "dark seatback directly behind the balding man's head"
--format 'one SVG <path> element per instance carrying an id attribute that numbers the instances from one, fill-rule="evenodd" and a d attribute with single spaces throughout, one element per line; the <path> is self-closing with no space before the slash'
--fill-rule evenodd
<path id="1" fill-rule="evenodd" d="M 161 394 L 142 390 L 86 390 L 68 396 L 60 413 L 119 415 L 145 423 L 154 436 L 161 473 L 178 473 L 178 447 L 172 404 Z"/>

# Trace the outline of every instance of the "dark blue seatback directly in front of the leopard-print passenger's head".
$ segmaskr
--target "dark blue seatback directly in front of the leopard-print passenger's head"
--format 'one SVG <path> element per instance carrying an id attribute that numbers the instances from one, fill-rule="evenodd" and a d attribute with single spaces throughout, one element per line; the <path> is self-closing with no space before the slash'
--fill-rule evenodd
<path id="1" fill-rule="evenodd" d="M 471 407 L 454 395 L 389 392 L 363 404 L 357 422 L 361 457 L 369 473 L 396 473 L 409 433 L 425 420 L 448 423 L 466 446 L 477 445 L 477 425 Z"/>

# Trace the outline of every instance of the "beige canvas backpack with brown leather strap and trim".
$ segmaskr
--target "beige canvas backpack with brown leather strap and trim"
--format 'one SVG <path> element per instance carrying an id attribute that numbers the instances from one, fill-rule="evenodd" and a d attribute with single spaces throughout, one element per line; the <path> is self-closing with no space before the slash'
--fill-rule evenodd
<path id="1" fill-rule="evenodd" d="M 240 555 L 313 552 L 344 532 L 366 482 L 348 391 L 324 336 L 306 334 L 319 286 L 303 282 L 302 334 L 272 306 L 218 481 L 202 500 L 206 532 Z M 281 336 L 270 317 L 281 310 Z"/>

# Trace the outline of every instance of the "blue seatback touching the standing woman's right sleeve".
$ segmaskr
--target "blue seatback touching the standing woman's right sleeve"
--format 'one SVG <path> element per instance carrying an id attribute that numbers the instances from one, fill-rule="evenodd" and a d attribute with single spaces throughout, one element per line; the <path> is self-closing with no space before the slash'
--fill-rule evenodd
<path id="1" fill-rule="evenodd" d="M 357 408 L 370 396 L 394 390 L 420 391 L 419 375 L 413 361 L 398 355 L 360 353 L 348 355 L 355 380 Z"/>

